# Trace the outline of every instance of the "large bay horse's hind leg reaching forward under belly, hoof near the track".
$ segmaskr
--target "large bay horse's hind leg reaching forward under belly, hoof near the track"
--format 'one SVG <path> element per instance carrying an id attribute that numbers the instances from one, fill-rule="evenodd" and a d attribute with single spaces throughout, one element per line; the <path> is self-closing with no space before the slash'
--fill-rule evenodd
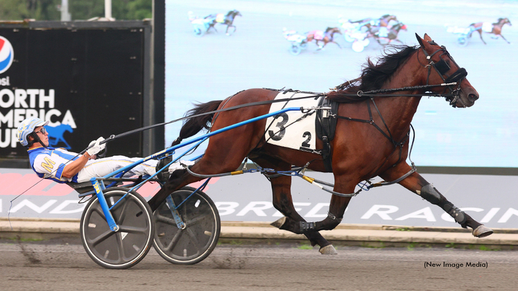
<path id="1" fill-rule="evenodd" d="M 275 170 L 291 170 L 291 164 L 279 161 L 270 157 L 261 156 L 260 158 L 255 157 L 253 159 L 259 166 L 264 168 L 275 168 Z M 274 177 L 268 177 L 272 185 L 273 192 L 273 206 L 275 209 L 284 214 L 284 218 L 281 218 L 272 223 L 274 227 L 292 231 L 293 229 L 300 229 L 300 222 L 307 223 L 302 216 L 297 213 L 295 206 L 293 206 L 293 200 L 291 197 L 291 176 L 286 175 L 275 175 Z M 322 254 L 336 254 L 336 250 L 318 231 L 309 229 L 304 233 L 311 245 L 319 245 L 320 253 Z"/>

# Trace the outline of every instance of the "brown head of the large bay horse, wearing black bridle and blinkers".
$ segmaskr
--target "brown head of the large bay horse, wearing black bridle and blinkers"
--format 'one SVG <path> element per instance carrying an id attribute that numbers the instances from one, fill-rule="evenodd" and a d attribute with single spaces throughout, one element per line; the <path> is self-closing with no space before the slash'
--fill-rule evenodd
<path id="1" fill-rule="evenodd" d="M 466 79 L 467 71 L 464 68 L 458 67 L 458 64 L 451 58 L 446 47 L 439 46 L 426 34 L 424 39 L 417 35 L 417 33 L 415 36 L 417 37 L 417 42 L 421 45 L 417 58 L 428 71 L 426 84 L 452 84 L 445 86 L 446 89 L 442 90 L 442 92 L 436 91 L 436 93 L 450 93 L 450 96 L 446 99 L 454 107 L 473 106 L 478 99 L 478 92 Z"/>

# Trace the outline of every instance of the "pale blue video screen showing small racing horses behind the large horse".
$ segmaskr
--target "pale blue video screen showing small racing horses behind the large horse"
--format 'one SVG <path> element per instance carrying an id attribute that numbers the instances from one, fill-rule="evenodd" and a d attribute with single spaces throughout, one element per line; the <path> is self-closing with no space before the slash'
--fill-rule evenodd
<path id="1" fill-rule="evenodd" d="M 414 46 L 415 34 L 426 33 L 467 70 L 480 98 L 459 109 L 423 97 L 411 159 L 417 166 L 514 168 L 515 19 L 516 1 L 166 0 L 166 121 L 244 89 L 327 92 L 358 78 L 388 45 Z M 181 125 L 166 126 L 166 146 Z"/>

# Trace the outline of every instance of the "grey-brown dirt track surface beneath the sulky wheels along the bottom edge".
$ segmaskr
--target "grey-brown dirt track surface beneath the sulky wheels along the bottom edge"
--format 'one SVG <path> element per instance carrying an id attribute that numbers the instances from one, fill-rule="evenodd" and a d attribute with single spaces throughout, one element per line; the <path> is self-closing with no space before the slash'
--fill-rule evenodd
<path id="1" fill-rule="evenodd" d="M 297 245 L 220 245 L 197 265 L 171 265 L 152 249 L 131 269 L 105 270 L 82 245 L 4 241 L 0 258 L 0 289 L 11 291 L 516 290 L 518 283 L 515 251 L 338 247 L 323 256 Z"/>

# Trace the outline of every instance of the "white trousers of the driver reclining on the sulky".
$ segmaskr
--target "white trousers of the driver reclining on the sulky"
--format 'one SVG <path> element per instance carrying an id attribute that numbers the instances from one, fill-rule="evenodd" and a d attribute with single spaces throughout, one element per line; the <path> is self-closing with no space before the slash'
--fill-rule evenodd
<path id="1" fill-rule="evenodd" d="M 80 170 L 78 173 L 78 183 L 88 182 L 93 177 L 104 177 L 120 168 L 128 166 L 129 164 L 134 163 L 135 161 L 139 161 L 142 158 L 135 157 L 129 158 L 124 156 L 113 156 L 107 157 L 103 159 L 91 159 L 87 162 L 83 170 Z M 157 166 L 156 159 L 150 159 L 141 163 L 135 168 L 132 168 L 128 171 L 123 177 L 132 177 L 139 175 L 154 175 L 156 173 Z"/>

